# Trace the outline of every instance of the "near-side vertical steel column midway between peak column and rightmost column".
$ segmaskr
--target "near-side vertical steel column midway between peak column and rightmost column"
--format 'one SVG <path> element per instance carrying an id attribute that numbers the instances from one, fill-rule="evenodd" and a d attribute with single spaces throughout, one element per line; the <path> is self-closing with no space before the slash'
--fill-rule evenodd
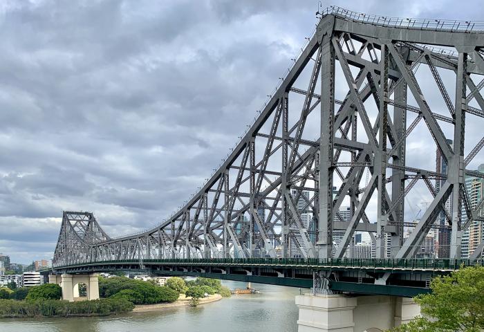
<path id="1" fill-rule="evenodd" d="M 387 184 L 387 126 L 388 126 L 388 48 L 382 44 L 380 59 L 380 126 L 378 129 L 378 149 L 375 151 L 375 172 L 378 175 L 378 210 L 376 226 L 376 257 L 384 258 L 387 208 L 385 206 L 385 185 Z"/>

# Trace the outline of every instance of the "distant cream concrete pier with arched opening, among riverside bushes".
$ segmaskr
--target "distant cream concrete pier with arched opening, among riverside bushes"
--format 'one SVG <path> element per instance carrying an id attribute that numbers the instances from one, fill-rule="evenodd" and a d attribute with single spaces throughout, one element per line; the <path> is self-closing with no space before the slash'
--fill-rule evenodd
<path id="1" fill-rule="evenodd" d="M 62 288 L 62 299 L 73 302 L 79 298 L 79 284 L 86 285 L 87 299 L 99 299 L 99 279 L 97 273 L 90 275 L 49 275 L 49 284 Z"/>

